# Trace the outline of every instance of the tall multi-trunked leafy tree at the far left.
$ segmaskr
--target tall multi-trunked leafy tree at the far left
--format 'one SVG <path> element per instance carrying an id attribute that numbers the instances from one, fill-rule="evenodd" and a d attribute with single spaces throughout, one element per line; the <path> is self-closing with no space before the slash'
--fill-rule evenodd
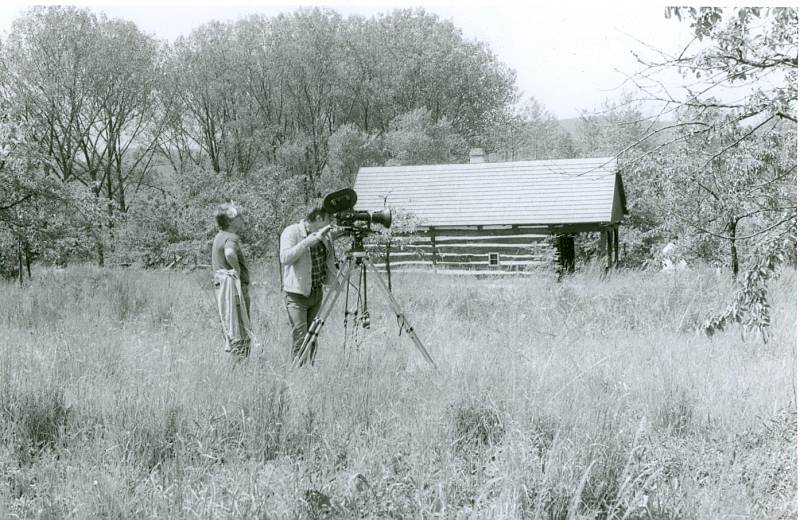
<path id="1" fill-rule="evenodd" d="M 30 134 L 28 151 L 45 173 L 98 199 L 79 213 L 99 264 L 128 188 L 152 166 L 157 133 L 155 41 L 130 22 L 71 7 L 35 7 L 15 20 L 0 80 L 12 117 Z M 37 146 L 33 146 L 33 145 Z M 92 209 L 89 211 L 89 209 Z"/>

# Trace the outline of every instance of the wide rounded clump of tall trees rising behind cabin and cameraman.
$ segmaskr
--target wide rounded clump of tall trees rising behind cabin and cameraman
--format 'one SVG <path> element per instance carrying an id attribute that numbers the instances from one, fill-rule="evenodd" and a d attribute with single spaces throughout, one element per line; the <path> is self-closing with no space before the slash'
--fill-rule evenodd
<path id="1" fill-rule="evenodd" d="M 430 125 L 477 138 L 513 94 L 513 74 L 485 46 L 423 10 L 213 22 L 179 39 L 168 63 L 162 150 L 177 169 L 208 161 L 245 175 L 288 154 L 309 196 L 324 171 L 345 166 L 342 149 L 329 149 L 347 146 L 345 134 L 374 141 L 410 125 L 397 124 L 401 114 L 425 110 Z"/>

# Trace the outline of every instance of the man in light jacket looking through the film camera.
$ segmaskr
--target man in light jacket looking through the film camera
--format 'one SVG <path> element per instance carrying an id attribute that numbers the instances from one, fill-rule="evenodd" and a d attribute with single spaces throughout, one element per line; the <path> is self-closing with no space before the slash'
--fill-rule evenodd
<path id="1" fill-rule="evenodd" d="M 280 260 L 286 310 L 292 325 L 293 360 L 302 354 L 303 339 L 319 312 L 322 286 L 336 281 L 335 234 L 331 231 L 331 216 L 319 205 L 309 211 L 306 218 L 281 233 Z M 308 348 L 301 365 L 306 359 L 314 364 L 316 341 Z"/>

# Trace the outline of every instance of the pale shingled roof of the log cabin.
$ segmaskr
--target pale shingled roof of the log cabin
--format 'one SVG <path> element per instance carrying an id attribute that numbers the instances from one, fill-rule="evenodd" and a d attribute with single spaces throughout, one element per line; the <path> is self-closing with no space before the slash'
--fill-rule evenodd
<path id="1" fill-rule="evenodd" d="M 357 209 L 424 226 L 611 224 L 627 214 L 614 158 L 361 168 Z"/>

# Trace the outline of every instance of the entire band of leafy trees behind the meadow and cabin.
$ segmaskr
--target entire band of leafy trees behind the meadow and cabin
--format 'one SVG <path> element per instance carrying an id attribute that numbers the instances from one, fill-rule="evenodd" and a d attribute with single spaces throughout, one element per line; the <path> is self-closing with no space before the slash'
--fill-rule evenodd
<path id="1" fill-rule="evenodd" d="M 628 94 L 567 129 L 486 44 L 421 9 L 254 15 L 166 43 L 88 9 L 31 8 L 0 41 L 3 270 L 203 255 L 211 208 L 231 199 L 267 255 L 360 166 L 464 162 L 480 146 L 492 160 L 616 157 L 631 265 L 673 240 L 736 274 L 742 250 L 794 240 L 797 11 L 667 15 L 699 50 L 642 59 Z M 666 68 L 692 78 L 686 96 L 658 90 Z M 747 83 L 773 88 L 709 94 Z"/>

